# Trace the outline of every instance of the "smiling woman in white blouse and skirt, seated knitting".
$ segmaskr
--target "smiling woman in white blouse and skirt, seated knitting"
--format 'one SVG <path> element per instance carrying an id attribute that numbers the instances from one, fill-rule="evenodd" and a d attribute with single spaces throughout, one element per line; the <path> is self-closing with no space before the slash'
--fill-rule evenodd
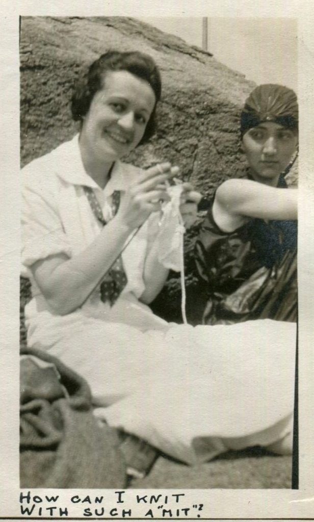
<path id="1" fill-rule="evenodd" d="M 149 56 L 102 55 L 72 101 L 79 135 L 23 169 L 26 325 L 30 347 L 86 377 L 108 423 L 194 462 L 291 434 L 295 325 L 194 328 L 147 306 L 180 268 L 175 210 L 200 197 L 168 188 L 170 163 L 120 161 L 153 134 L 160 96 Z"/>

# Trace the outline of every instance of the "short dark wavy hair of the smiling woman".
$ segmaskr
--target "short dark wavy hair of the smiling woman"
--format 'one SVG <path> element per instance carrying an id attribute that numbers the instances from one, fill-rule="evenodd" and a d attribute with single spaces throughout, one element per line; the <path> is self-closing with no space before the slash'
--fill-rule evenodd
<path id="1" fill-rule="evenodd" d="M 126 70 L 142 80 L 146 80 L 155 94 L 155 105 L 147 122 L 143 137 L 138 145 L 146 143 L 156 131 L 156 105 L 161 97 L 161 76 L 154 60 L 138 51 L 108 51 L 93 62 L 83 81 L 76 85 L 71 99 L 71 113 L 74 121 L 82 123 L 96 92 L 104 87 L 108 71 Z"/>

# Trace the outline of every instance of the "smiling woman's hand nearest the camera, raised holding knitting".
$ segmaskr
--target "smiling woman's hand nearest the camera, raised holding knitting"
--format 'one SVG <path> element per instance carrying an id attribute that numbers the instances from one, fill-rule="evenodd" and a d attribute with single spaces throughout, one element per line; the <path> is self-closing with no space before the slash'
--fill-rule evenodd
<path id="1" fill-rule="evenodd" d="M 160 163 L 144 171 L 121 199 L 116 219 L 130 230 L 140 227 L 151 212 L 160 210 L 160 201 L 169 199 L 167 182 L 178 171 L 179 168 L 170 163 Z"/>

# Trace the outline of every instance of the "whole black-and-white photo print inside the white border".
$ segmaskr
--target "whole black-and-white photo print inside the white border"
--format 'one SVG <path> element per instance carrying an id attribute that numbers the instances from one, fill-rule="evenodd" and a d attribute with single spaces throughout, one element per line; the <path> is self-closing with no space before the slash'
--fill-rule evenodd
<path id="1" fill-rule="evenodd" d="M 21 488 L 298 488 L 297 34 L 20 18 Z"/>

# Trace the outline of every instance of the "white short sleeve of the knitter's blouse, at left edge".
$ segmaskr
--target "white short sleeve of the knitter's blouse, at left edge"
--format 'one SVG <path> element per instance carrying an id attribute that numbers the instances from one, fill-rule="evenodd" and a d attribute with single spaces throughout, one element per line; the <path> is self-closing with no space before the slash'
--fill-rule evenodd
<path id="1" fill-rule="evenodd" d="M 71 256 L 58 214 L 60 187 L 56 176 L 49 174 L 37 160 L 22 169 L 22 264 L 26 267 L 54 254 Z"/>

